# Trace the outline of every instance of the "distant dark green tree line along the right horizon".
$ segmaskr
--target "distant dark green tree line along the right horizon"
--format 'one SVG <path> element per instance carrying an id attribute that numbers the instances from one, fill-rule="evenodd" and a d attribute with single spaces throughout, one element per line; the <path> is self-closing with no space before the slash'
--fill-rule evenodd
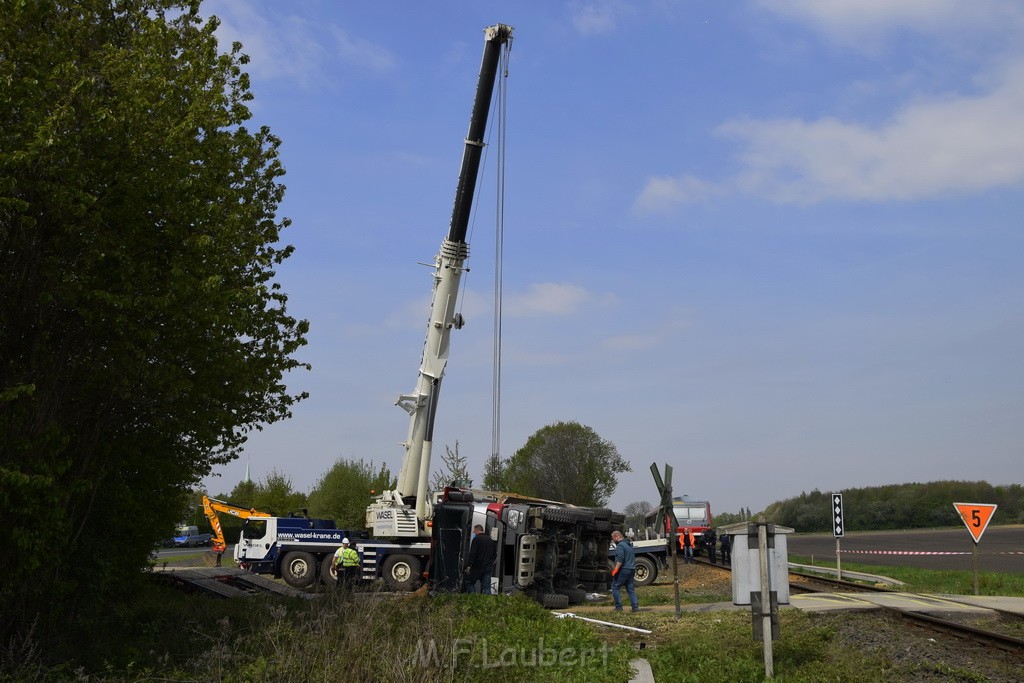
<path id="1" fill-rule="evenodd" d="M 831 530 L 831 495 L 843 494 L 843 521 L 848 531 L 931 528 L 962 524 L 953 503 L 993 503 L 993 524 L 1024 523 L 1024 486 L 987 481 L 931 481 L 886 486 L 812 490 L 765 510 L 769 521 L 797 531 Z"/>

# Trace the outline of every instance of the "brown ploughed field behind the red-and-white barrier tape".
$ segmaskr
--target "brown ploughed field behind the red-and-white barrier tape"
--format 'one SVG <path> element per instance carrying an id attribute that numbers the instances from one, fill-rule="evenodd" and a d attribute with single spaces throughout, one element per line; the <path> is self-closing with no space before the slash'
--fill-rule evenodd
<path id="1" fill-rule="evenodd" d="M 836 559 L 829 533 L 791 533 L 790 555 Z M 843 559 L 858 564 L 971 570 L 974 539 L 966 526 L 908 531 L 855 531 L 840 540 Z M 959 552 L 965 555 L 870 554 L 851 551 Z M 980 571 L 1024 572 L 1024 525 L 989 526 L 978 544 Z"/>

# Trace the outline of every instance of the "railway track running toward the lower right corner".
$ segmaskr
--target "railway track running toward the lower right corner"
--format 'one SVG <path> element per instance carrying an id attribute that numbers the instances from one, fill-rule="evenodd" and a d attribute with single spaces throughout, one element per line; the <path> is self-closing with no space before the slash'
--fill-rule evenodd
<path id="1" fill-rule="evenodd" d="M 716 567 L 722 571 L 731 572 L 731 567 L 723 566 L 721 564 L 712 564 L 705 558 L 694 558 L 694 560 L 705 564 L 706 566 Z M 796 591 L 800 593 L 883 593 L 903 596 L 914 595 L 912 593 L 907 593 L 906 591 L 897 591 L 884 586 L 831 579 L 828 577 L 810 574 L 801 571 L 790 572 L 790 591 L 791 593 Z M 978 607 L 977 604 L 964 600 L 957 600 L 956 596 L 942 596 L 941 600 L 929 598 L 929 596 L 921 596 L 921 598 L 923 602 L 927 602 L 931 599 L 935 604 L 936 611 L 940 612 L 942 603 Z M 986 647 L 994 647 L 1024 656 L 1024 639 L 1017 636 L 950 621 L 949 618 L 937 616 L 934 613 L 928 613 L 922 611 L 921 609 L 910 609 L 892 605 L 882 605 L 878 603 L 872 604 L 887 614 L 896 616 L 915 627 L 928 629 L 936 633 L 953 636 L 959 639 L 971 640 Z M 1005 621 L 1024 621 L 1024 615 L 1020 612 L 990 606 L 981 607 L 980 609 L 989 610 Z M 972 614 L 977 616 L 977 612 L 972 612 Z"/>

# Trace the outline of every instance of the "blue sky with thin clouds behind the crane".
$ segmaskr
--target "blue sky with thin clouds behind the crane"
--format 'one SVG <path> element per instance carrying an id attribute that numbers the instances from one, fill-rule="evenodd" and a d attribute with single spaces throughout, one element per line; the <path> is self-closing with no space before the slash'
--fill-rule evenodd
<path id="1" fill-rule="evenodd" d="M 218 0 L 283 140 L 310 397 L 215 493 L 400 466 L 482 29 L 515 28 L 501 452 L 577 421 L 716 511 L 1024 480 L 1024 5 Z M 494 132 L 495 128 L 490 128 Z M 496 144 L 490 145 L 495 152 Z M 492 444 L 488 154 L 435 453 Z M 439 463 L 435 458 L 435 468 Z M 984 502 L 984 501 L 979 501 Z"/>

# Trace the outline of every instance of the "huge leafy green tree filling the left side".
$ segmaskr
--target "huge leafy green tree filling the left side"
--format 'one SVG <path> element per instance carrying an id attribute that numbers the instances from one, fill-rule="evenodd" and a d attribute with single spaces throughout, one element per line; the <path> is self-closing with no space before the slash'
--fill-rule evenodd
<path id="1" fill-rule="evenodd" d="M 0 0 L 2 642 L 131 595 L 188 490 L 303 396 L 280 140 L 198 12 Z"/>

